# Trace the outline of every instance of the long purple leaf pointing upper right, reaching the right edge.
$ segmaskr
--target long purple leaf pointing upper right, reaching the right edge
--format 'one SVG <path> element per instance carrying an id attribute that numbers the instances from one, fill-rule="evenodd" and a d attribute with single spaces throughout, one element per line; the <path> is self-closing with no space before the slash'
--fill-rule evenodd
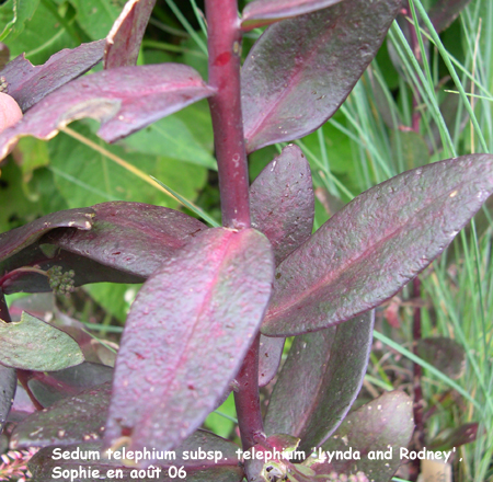
<path id="1" fill-rule="evenodd" d="M 307 333 L 380 305 L 447 248 L 492 191 L 493 156 L 471 154 L 360 194 L 280 263 L 262 333 Z"/>

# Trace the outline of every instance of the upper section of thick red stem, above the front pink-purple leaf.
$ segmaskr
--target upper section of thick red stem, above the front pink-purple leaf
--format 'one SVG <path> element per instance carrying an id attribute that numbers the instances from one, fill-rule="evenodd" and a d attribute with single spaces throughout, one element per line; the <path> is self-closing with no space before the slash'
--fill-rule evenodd
<path id="1" fill-rule="evenodd" d="M 249 172 L 240 95 L 241 31 L 236 0 L 206 0 L 209 99 L 219 171 L 222 226 L 250 227 Z"/>

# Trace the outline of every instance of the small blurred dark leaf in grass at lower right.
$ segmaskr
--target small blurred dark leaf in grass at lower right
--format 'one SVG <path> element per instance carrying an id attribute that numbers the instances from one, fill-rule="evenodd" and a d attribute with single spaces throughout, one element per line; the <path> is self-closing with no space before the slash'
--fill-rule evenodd
<path id="1" fill-rule="evenodd" d="M 422 338 L 416 345 L 417 356 L 452 379 L 461 377 L 466 369 L 466 349 L 446 336 Z"/>

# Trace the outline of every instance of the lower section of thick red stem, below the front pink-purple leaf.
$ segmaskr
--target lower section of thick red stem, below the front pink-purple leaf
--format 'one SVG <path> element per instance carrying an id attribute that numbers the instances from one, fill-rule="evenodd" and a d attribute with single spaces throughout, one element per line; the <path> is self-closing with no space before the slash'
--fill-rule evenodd
<path id="1" fill-rule="evenodd" d="M 234 404 L 243 450 L 265 439 L 259 397 L 259 346 L 260 333 L 252 343 L 236 378 L 238 391 L 234 391 Z"/>

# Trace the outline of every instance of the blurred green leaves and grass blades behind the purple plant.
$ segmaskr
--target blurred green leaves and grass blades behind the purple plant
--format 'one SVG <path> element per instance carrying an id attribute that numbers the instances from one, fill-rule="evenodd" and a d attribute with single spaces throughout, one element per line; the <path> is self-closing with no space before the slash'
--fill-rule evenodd
<path id="1" fill-rule="evenodd" d="M 5 25 L 0 39 L 11 59 L 25 53 L 35 65 L 62 48 L 105 37 L 125 3 L 21 0 L 16 2 L 16 22 L 9 32 L 13 1 L 0 2 L 0 28 Z M 240 1 L 240 7 L 244 3 Z M 428 10 L 434 1 L 422 3 Z M 402 171 L 454 156 L 493 152 L 493 2 L 462 3 L 468 3 L 467 8 L 439 37 L 434 38 L 423 24 L 416 24 L 422 48 L 414 50 L 406 42 L 413 24 L 411 12 L 401 15 L 337 114 L 296 141 L 312 167 L 314 229 L 357 194 Z M 207 78 L 203 10 L 200 0 L 158 0 L 138 64 L 183 62 Z M 246 34 L 243 55 L 261 33 L 255 30 Z M 460 79 L 462 95 L 450 65 Z M 467 103 L 475 114 L 475 125 Z M 108 153 L 163 182 L 220 221 L 213 130 L 205 101 L 112 146 L 95 136 L 94 122 L 81 120 L 70 127 L 84 140 L 65 133 L 48 142 L 23 138 L 0 163 L 0 232 L 55 210 L 117 199 L 192 214 Z M 250 156 L 252 180 L 280 148 L 267 147 Z M 412 315 L 416 307 L 421 308 L 424 337 L 454 338 L 463 348 L 460 355 L 454 352 L 448 357 L 449 364 L 440 365 L 433 353 L 420 355 L 435 367 L 435 371 L 425 368 L 422 379 L 425 440 L 429 444 L 437 436 L 447 439 L 447 431 L 456 429 L 460 435 L 465 424 L 479 423 L 477 441 L 462 445 L 456 456 L 456 480 L 460 481 L 493 481 L 491 207 L 490 200 L 475 222 L 422 275 L 419 299 L 404 288 L 378 310 L 375 349 L 362 391 L 362 400 L 392 388 L 412 392 Z M 77 302 L 62 303 L 108 336 L 104 330 L 110 324 L 124 324 L 137 290 L 138 286 L 93 285 L 79 290 Z M 461 372 L 452 377 L 449 365 L 457 365 L 461 357 Z M 263 397 L 267 393 L 268 387 Z M 478 403 L 471 403 L 472 399 Z M 233 437 L 232 400 L 220 411 L 226 416 L 213 414 L 206 426 Z"/>

